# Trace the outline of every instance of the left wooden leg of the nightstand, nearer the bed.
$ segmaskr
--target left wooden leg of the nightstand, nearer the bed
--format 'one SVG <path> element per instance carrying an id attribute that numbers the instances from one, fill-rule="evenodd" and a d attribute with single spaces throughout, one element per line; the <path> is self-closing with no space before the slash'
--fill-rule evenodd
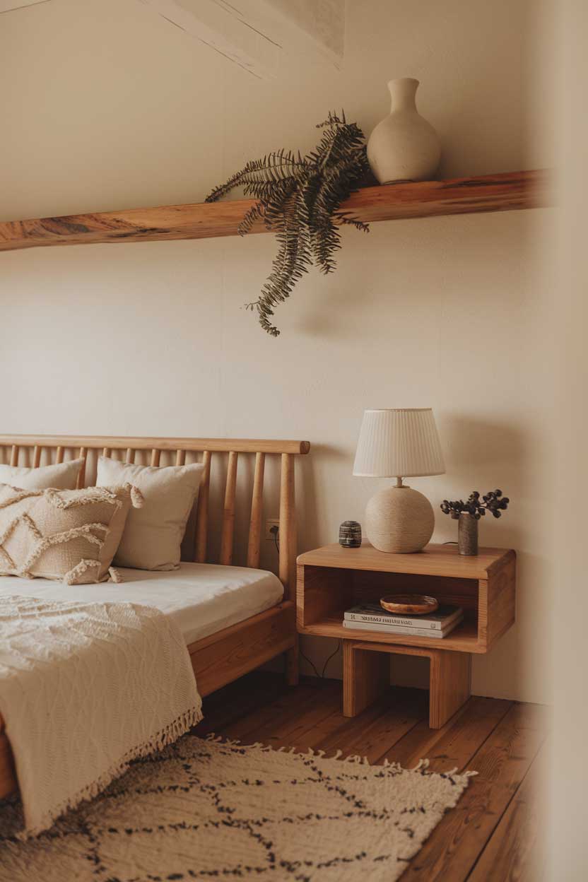
<path id="1" fill-rule="evenodd" d="M 343 716 L 357 716 L 390 688 L 387 654 L 354 649 L 343 640 Z"/>

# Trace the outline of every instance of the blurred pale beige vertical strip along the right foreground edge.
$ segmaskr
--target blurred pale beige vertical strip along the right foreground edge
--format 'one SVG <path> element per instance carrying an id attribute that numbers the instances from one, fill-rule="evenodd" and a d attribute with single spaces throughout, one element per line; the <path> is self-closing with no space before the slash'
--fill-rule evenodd
<path id="1" fill-rule="evenodd" d="M 584 660 L 588 621 L 585 517 L 588 494 L 588 120 L 577 108 L 584 106 L 588 80 L 588 7 L 584 0 L 565 0 L 560 12 L 556 122 L 560 135 L 562 216 L 555 240 L 555 273 L 560 286 L 554 324 L 555 334 L 561 340 L 556 360 L 559 394 L 555 407 L 560 427 L 560 480 L 555 530 L 558 602 L 554 604 L 556 689 L 548 803 L 552 860 L 548 878 L 557 882 L 584 882 L 588 877 L 585 820 L 588 702 Z"/>

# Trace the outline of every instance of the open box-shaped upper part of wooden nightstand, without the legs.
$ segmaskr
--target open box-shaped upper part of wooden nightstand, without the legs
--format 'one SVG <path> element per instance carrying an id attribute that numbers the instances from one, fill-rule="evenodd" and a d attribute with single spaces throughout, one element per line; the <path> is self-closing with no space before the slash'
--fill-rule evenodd
<path id="1" fill-rule="evenodd" d="M 428 545 L 421 553 L 386 554 L 371 545 L 327 545 L 298 558 L 297 624 L 301 634 L 364 640 L 454 652 L 487 653 L 515 620 L 514 551 L 480 549 L 462 557 L 453 545 Z M 443 639 L 345 628 L 355 603 L 384 594 L 429 594 L 464 609 L 464 621 Z"/>

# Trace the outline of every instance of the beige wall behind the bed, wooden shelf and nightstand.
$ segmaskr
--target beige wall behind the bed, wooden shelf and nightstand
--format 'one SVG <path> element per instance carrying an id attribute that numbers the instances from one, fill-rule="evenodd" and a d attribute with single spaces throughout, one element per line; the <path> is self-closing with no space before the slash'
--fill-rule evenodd
<path id="1" fill-rule="evenodd" d="M 5 14 L 2 219 L 200 200 L 249 158 L 308 149 L 329 108 L 370 131 L 403 75 L 421 79 L 444 176 L 547 166 L 539 9 L 350 3 L 344 70 L 288 59 L 272 82 L 135 0 Z M 279 310 L 279 340 L 241 308 L 267 273 L 268 235 L 5 253 L 4 430 L 309 438 L 304 549 L 361 520 L 385 483 L 351 476 L 363 408 L 430 405 L 447 474 L 414 486 L 437 512 L 474 488 L 513 500 L 481 534 L 518 550 L 518 624 L 475 659 L 474 691 L 547 701 L 556 295 L 539 258 L 553 213 L 346 230 L 338 273 L 310 273 Z M 455 533 L 438 512 L 435 540 Z M 307 643 L 318 662 L 331 649 Z"/>

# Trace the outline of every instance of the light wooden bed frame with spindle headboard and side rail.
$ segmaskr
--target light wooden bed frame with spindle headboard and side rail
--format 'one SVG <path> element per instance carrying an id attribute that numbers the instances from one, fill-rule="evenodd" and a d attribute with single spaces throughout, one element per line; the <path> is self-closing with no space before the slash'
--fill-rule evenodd
<path id="1" fill-rule="evenodd" d="M 266 455 L 279 455 L 279 579 L 284 586 L 284 599 L 272 609 L 231 625 L 188 647 L 198 691 L 205 696 L 231 683 L 264 662 L 286 653 L 288 684 L 298 683 L 298 635 L 295 622 L 296 591 L 296 512 L 294 502 L 294 457 L 308 453 L 308 441 L 263 441 L 227 438 L 157 438 L 157 437 L 71 437 L 0 435 L 0 452 L 11 466 L 19 465 L 20 452 L 34 468 L 46 462 L 63 462 L 65 452 L 73 451 L 84 460 L 78 487 L 84 486 L 86 460 L 89 452 L 110 456 L 122 452 L 123 460 L 133 462 L 137 452 L 149 453 L 152 466 L 160 465 L 162 452 L 175 454 L 175 464 L 183 465 L 186 454 L 202 454 L 204 475 L 197 502 L 194 560 L 197 563 L 233 563 L 234 513 L 237 488 L 237 462 L 241 454 L 255 454 L 255 471 L 249 518 L 247 566 L 257 568 L 263 534 L 264 465 Z M 228 454 L 224 506 L 220 528 L 220 560 L 207 555 L 211 461 L 215 453 Z M 11 746 L 4 732 L 0 715 L 0 798 L 18 788 Z"/>

